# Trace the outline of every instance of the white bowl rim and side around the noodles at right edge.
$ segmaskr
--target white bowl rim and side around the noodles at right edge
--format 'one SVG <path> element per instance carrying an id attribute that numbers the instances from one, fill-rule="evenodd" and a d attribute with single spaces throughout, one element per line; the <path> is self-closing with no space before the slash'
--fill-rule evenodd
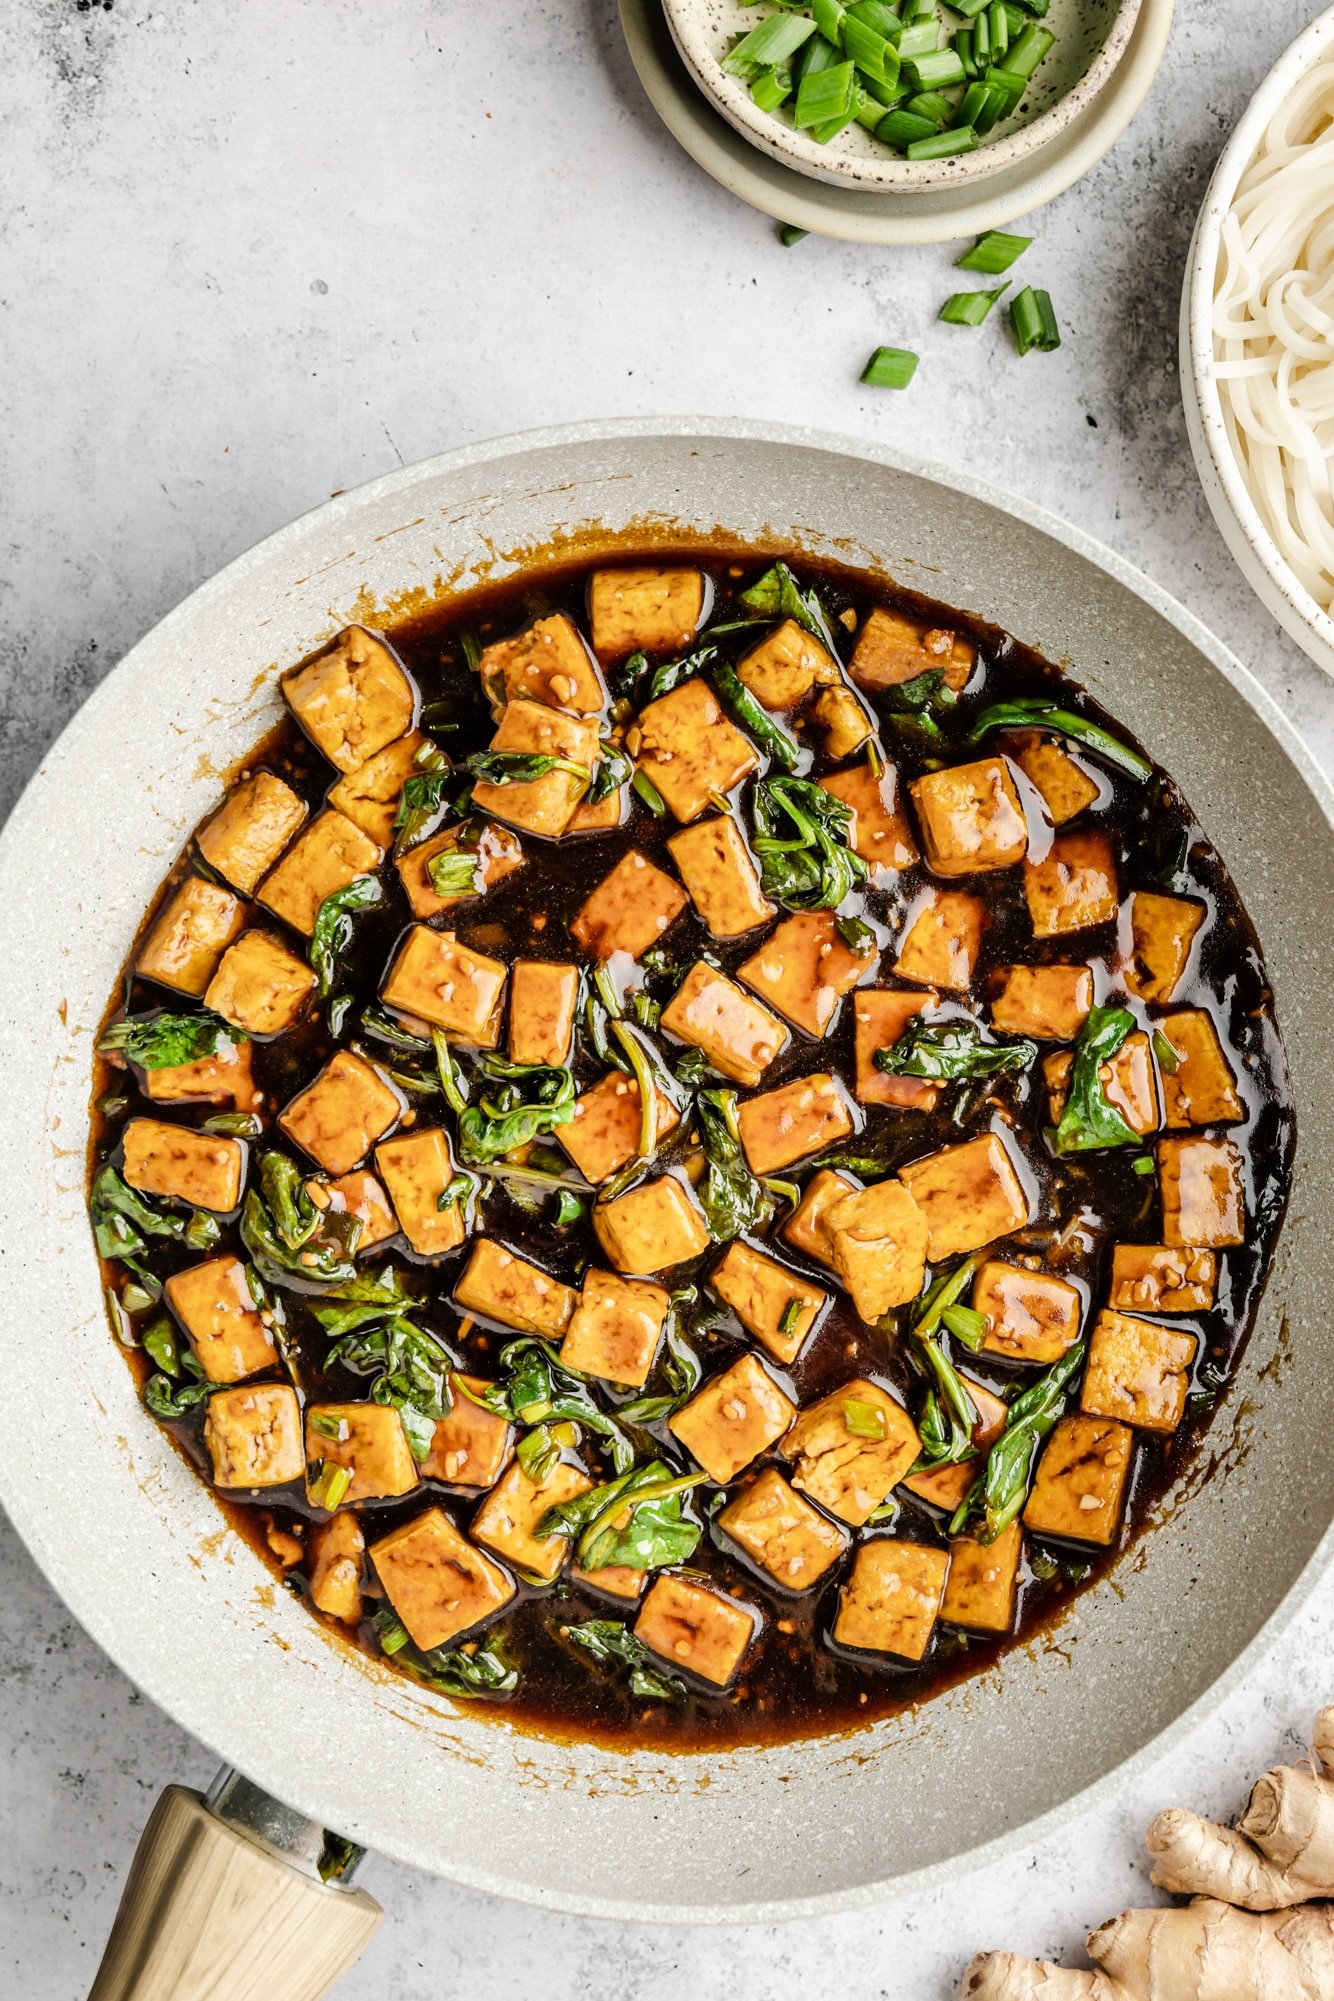
<path id="1" fill-rule="evenodd" d="M 1316 604 L 1288 566 L 1246 488 L 1214 380 L 1212 308 L 1222 224 L 1236 198 L 1238 182 L 1256 154 L 1264 128 L 1296 80 L 1312 62 L 1330 54 L 1334 54 L 1334 8 L 1320 14 L 1280 56 L 1224 146 L 1190 244 L 1180 330 L 1186 430 L 1214 520 L 1260 602 L 1326 674 L 1334 674 L 1334 616 Z"/>

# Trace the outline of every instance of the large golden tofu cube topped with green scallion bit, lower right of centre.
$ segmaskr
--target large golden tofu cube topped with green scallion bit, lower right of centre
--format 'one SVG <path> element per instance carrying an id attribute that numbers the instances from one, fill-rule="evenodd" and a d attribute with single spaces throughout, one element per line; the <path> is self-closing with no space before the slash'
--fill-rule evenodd
<path id="1" fill-rule="evenodd" d="M 800 1411 L 782 1441 L 782 1457 L 796 1469 L 792 1485 L 850 1529 L 870 1521 L 920 1449 L 904 1407 L 868 1377 Z"/>

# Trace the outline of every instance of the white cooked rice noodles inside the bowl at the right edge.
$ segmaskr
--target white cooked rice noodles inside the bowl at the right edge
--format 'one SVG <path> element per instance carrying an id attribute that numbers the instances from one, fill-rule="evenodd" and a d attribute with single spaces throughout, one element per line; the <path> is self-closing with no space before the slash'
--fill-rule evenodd
<path id="1" fill-rule="evenodd" d="M 1270 118 L 1224 216 L 1212 374 L 1260 520 L 1334 610 L 1334 58 Z"/>

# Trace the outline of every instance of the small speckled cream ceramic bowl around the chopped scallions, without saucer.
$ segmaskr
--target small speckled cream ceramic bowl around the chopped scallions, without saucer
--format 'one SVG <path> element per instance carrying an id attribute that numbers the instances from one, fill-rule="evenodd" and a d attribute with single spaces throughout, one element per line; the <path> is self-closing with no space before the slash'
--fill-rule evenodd
<path id="1" fill-rule="evenodd" d="M 798 174 L 868 192 L 966 186 L 1036 154 L 1112 82 L 1140 6 L 1142 0 L 1052 0 L 1044 26 L 1056 40 L 1014 116 L 988 132 L 976 152 L 950 160 L 904 160 L 860 124 L 846 126 L 822 146 L 808 132 L 794 130 L 786 112 L 762 112 L 750 86 L 726 74 L 722 58 L 734 36 L 764 18 L 754 0 L 662 0 L 686 68 L 728 124 Z"/>

